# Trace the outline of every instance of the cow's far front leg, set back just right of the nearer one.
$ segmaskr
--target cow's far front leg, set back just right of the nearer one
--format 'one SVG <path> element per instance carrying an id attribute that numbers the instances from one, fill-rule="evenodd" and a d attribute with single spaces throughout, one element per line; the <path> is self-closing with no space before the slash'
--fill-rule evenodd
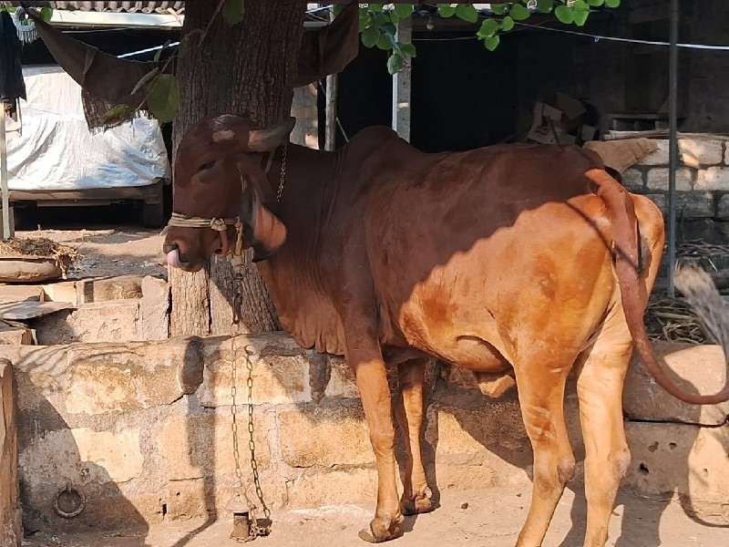
<path id="1" fill-rule="evenodd" d="M 431 511 L 432 492 L 427 486 L 426 470 L 420 447 L 423 428 L 423 384 L 427 358 L 411 359 L 397 367 L 400 401 L 396 408 L 397 423 L 405 438 L 407 460 L 403 476 L 403 496 L 400 507 L 404 514 Z"/>

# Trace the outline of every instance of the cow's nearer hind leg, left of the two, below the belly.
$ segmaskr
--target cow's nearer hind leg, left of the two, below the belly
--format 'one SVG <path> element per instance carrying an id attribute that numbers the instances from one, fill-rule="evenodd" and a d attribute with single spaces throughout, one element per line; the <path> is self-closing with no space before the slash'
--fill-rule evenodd
<path id="1" fill-rule="evenodd" d="M 517 547 L 541 545 L 565 484 L 574 475 L 575 457 L 564 421 L 564 389 L 573 362 L 574 356 L 559 363 L 515 367 L 521 415 L 534 449 L 531 506 Z"/>

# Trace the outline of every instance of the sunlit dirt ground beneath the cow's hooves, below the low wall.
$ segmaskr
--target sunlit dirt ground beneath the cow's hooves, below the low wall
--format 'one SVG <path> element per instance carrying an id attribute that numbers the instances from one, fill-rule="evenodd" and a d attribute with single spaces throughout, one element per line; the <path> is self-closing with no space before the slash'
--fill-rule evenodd
<path id="1" fill-rule="evenodd" d="M 567 490 L 549 528 L 545 547 L 582 545 L 586 519 L 582 490 Z M 436 511 L 409 517 L 404 533 L 393 547 L 513 547 L 527 516 L 530 491 L 517 488 L 445 490 Z M 269 537 L 253 547 L 364 547 L 357 532 L 372 518 L 372 509 L 360 505 L 333 505 L 316 510 L 277 511 Z M 214 522 L 182 521 L 151 526 L 143 531 L 36 534 L 24 547 L 227 547 L 230 519 Z M 613 511 L 610 547 L 723 547 L 729 528 L 709 527 L 693 521 L 676 501 L 652 501 L 622 493 Z"/>

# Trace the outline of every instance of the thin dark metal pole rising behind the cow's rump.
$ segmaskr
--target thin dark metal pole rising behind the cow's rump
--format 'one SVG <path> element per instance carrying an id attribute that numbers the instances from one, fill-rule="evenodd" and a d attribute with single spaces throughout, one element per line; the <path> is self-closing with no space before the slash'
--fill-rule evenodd
<path id="1" fill-rule="evenodd" d="M 668 58 L 668 295 L 673 297 L 676 269 L 676 169 L 678 139 L 676 109 L 678 95 L 678 0 L 671 0 L 671 46 Z"/>

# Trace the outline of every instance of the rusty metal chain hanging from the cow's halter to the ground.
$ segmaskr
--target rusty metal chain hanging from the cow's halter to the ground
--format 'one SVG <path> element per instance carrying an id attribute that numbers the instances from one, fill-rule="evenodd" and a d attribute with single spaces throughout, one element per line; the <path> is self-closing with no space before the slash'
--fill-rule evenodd
<path id="1" fill-rule="evenodd" d="M 241 268 L 236 268 L 236 272 L 233 275 L 235 280 L 235 298 L 233 299 L 233 325 L 237 325 L 241 318 L 241 304 L 242 304 L 242 271 Z M 231 325 L 231 331 L 232 326 Z M 252 350 L 245 346 L 243 348 L 246 368 L 248 369 L 248 377 L 246 378 L 246 387 L 248 387 L 248 449 L 251 451 L 251 470 L 253 474 L 253 485 L 256 491 L 256 497 L 261 502 L 263 511 L 263 519 L 259 523 L 256 519 L 256 505 L 251 501 L 246 491 L 245 485 L 243 484 L 243 471 L 241 470 L 241 450 L 238 443 L 238 411 L 236 396 L 238 395 L 237 375 L 238 366 L 236 363 L 235 354 L 235 334 L 231 332 L 231 415 L 232 415 L 232 439 L 233 439 L 233 460 L 235 461 L 235 478 L 237 481 L 237 488 L 241 491 L 242 497 L 245 499 L 248 505 L 249 512 L 249 536 L 248 538 L 234 538 L 241 542 L 250 542 L 257 536 L 266 536 L 271 533 L 271 511 L 269 510 L 266 502 L 263 501 L 263 490 L 261 488 L 261 479 L 258 472 L 258 460 L 256 459 L 256 443 L 253 439 L 253 363 L 251 361 Z"/>

